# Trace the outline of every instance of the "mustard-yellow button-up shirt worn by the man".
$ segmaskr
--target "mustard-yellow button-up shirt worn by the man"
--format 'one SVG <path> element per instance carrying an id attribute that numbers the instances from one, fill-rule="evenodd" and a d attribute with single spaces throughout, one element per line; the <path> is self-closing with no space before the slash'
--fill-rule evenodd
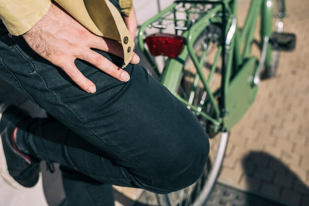
<path id="1" fill-rule="evenodd" d="M 120 41 L 124 66 L 130 62 L 134 42 L 121 15 L 109 0 L 55 1 L 94 34 Z M 119 0 L 122 13 L 129 15 L 132 1 Z M 44 16 L 50 4 L 51 0 L 0 0 L 0 19 L 12 35 L 22 35 Z M 127 38 L 129 41 L 124 41 Z"/>

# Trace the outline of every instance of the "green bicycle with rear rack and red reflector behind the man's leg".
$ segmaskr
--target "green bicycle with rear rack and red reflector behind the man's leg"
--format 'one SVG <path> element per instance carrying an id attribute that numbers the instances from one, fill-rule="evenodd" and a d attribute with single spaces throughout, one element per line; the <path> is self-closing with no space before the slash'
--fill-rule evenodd
<path id="1" fill-rule="evenodd" d="M 279 51 L 295 47 L 295 35 L 283 33 L 285 0 L 252 0 L 241 30 L 236 10 L 237 0 L 177 0 L 140 27 L 138 45 L 152 66 L 150 73 L 196 115 L 211 139 L 207 164 L 196 183 L 168 195 L 144 191 L 144 204 L 205 205 L 229 131 L 254 102 L 261 75 L 275 76 Z M 260 60 L 251 54 L 259 14 Z M 145 38 L 146 30 L 157 33 Z M 162 72 L 152 57 L 158 55 L 168 57 Z"/>

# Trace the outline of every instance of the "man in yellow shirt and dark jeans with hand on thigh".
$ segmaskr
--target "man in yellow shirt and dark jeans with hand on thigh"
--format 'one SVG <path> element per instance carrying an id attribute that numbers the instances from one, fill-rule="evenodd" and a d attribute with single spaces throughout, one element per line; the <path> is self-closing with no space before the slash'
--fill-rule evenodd
<path id="1" fill-rule="evenodd" d="M 130 16 L 131 0 L 112 2 Z M 34 186 L 40 160 L 60 163 L 68 179 L 91 178 L 105 191 L 92 191 L 98 202 L 111 185 L 169 193 L 200 176 L 209 152 L 204 129 L 134 65 L 139 57 L 114 5 L 0 1 L 0 77 L 53 116 L 31 118 L 0 104 L 0 172 L 13 187 Z M 64 186 L 69 204 L 85 204 Z"/>

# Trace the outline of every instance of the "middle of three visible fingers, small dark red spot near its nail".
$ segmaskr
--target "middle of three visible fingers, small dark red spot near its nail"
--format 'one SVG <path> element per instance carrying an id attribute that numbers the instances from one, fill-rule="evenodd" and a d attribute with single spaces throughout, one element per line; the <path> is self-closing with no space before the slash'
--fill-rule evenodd
<path id="1" fill-rule="evenodd" d="M 101 54 L 92 51 L 91 49 L 86 52 L 82 52 L 81 56 L 78 56 L 78 58 L 89 62 L 99 70 L 107 73 L 108 75 L 114 77 L 119 81 L 127 82 L 130 80 L 130 76 L 126 71 L 117 67 L 110 60 L 108 60 Z"/>

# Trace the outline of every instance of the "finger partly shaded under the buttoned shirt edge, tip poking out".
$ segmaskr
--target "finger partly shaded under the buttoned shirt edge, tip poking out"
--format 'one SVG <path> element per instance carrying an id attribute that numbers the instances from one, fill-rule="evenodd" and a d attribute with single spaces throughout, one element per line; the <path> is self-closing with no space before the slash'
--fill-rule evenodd
<path id="1" fill-rule="evenodd" d="M 108 53 L 116 55 L 117 57 L 123 58 L 123 49 L 122 49 L 121 44 L 118 41 L 94 36 L 94 38 L 90 40 L 89 46 L 91 48 L 96 48 L 101 51 L 106 51 Z M 132 52 L 132 58 L 131 58 L 130 63 L 138 64 L 139 62 L 140 62 L 140 57 L 135 52 Z"/>

